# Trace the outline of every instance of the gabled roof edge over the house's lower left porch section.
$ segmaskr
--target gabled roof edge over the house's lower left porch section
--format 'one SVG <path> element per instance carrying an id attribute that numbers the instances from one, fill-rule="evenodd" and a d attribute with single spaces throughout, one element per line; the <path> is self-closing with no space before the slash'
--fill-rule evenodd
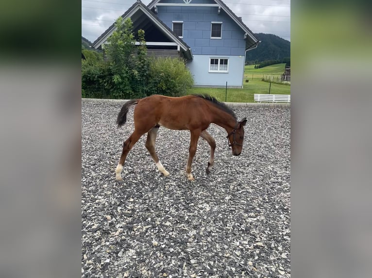
<path id="1" fill-rule="evenodd" d="M 191 48 L 181 39 L 179 38 L 169 27 L 164 24 L 148 7 L 146 7 L 140 0 L 136 0 L 136 2 L 123 14 L 121 17 L 126 19 L 131 17 L 135 12 L 141 10 L 154 24 L 156 24 L 172 41 L 176 42 L 180 45 L 180 48 L 184 51 L 187 59 L 192 60 Z M 109 37 L 112 32 L 116 30 L 115 22 L 104 31 L 101 36 L 97 38 L 92 44 L 94 48 L 98 48 L 101 44 Z"/>

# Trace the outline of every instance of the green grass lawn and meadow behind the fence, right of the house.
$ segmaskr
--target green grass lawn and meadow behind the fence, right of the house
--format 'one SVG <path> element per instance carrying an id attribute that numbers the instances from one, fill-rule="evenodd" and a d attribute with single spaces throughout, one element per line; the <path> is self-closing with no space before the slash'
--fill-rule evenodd
<path id="1" fill-rule="evenodd" d="M 269 93 L 270 83 L 262 81 L 263 75 L 280 76 L 284 73 L 285 64 L 275 64 L 260 69 L 254 69 L 254 65 L 245 66 L 243 89 L 225 88 L 191 88 L 187 94 L 209 94 L 219 101 L 227 102 L 254 102 L 255 93 Z M 253 75 L 253 78 L 252 78 Z M 248 79 L 249 82 L 245 82 Z M 290 94 L 290 85 L 271 83 L 271 94 Z"/>

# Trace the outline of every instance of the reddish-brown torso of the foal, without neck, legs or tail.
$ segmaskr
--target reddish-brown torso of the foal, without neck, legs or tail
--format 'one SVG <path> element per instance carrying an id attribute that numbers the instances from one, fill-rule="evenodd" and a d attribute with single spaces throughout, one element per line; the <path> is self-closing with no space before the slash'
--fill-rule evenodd
<path id="1" fill-rule="evenodd" d="M 147 121 L 169 129 L 201 129 L 211 123 L 210 110 L 203 98 L 194 95 L 170 97 L 154 94 L 138 101 L 135 123 Z"/>

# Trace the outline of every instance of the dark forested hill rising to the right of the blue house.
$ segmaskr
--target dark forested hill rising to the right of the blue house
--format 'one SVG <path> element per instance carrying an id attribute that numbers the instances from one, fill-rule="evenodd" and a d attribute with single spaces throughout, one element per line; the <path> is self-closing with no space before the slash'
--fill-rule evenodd
<path id="1" fill-rule="evenodd" d="M 290 57 L 290 42 L 273 34 L 255 33 L 261 41 L 257 48 L 247 51 L 245 61 L 259 63 L 268 60 L 282 60 Z"/>

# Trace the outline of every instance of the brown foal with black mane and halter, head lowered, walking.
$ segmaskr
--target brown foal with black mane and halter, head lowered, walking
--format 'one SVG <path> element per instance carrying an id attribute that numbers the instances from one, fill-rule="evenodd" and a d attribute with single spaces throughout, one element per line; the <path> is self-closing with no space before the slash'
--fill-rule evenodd
<path id="1" fill-rule="evenodd" d="M 190 131 L 189 157 L 186 164 L 186 175 L 190 181 L 194 180 L 191 173 L 191 163 L 196 153 L 199 137 L 205 139 L 211 147 L 206 168 L 207 174 L 214 165 L 216 141 L 206 131 L 209 124 L 218 124 L 223 127 L 227 131 L 227 138 L 230 142 L 229 146 L 232 147 L 233 155 L 241 153 L 244 139 L 243 126 L 247 123 L 247 120 L 244 118 L 238 122 L 234 112 L 214 97 L 209 95 L 186 95 L 182 97 L 151 95 L 142 99 L 129 100 L 118 113 L 116 120 L 118 127 L 125 124 L 128 110 L 135 104 L 135 131 L 123 143 L 123 152 L 115 171 L 117 181 L 122 180 L 121 170 L 129 151 L 145 133 L 147 133 L 146 148 L 155 161 L 157 169 L 165 176 L 169 175 L 155 152 L 155 139 L 160 125 L 173 130 Z"/>

